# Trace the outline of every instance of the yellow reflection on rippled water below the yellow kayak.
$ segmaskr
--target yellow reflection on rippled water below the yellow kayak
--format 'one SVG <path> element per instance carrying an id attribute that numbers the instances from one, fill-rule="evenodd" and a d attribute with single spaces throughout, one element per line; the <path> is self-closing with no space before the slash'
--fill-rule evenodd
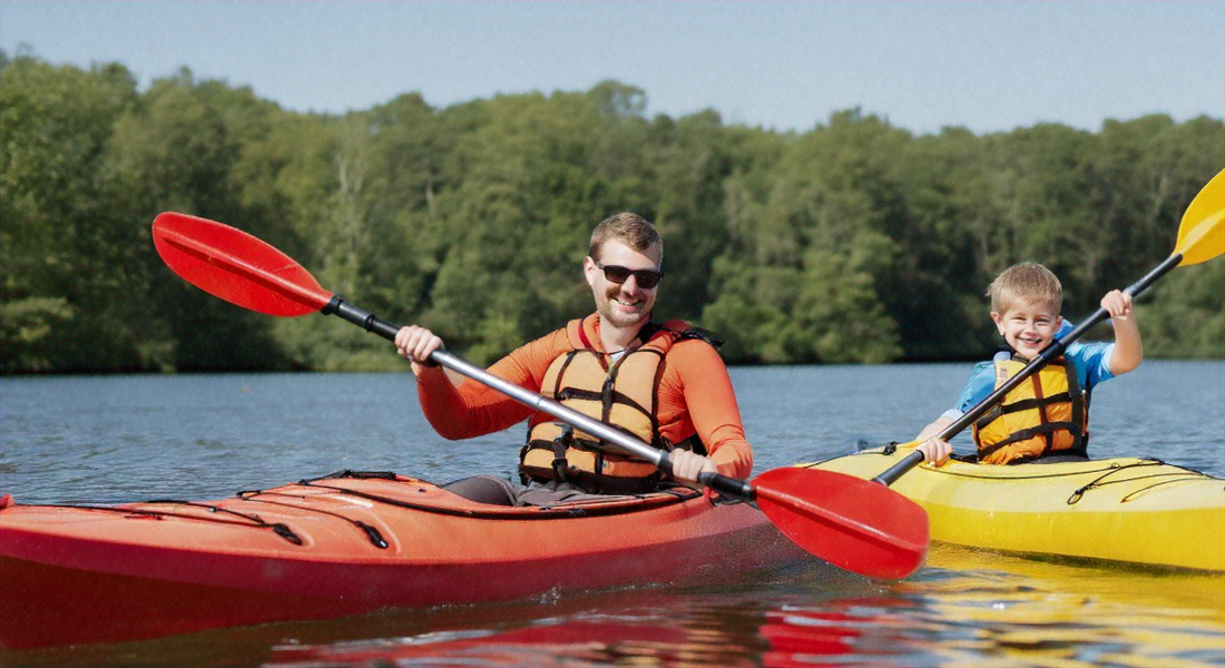
<path id="1" fill-rule="evenodd" d="M 941 666 L 1221 666 L 1225 576 L 1088 567 L 938 547 L 915 585 Z M 910 587 L 907 583 L 904 587 Z M 959 629 L 959 631 L 958 631 Z"/>

